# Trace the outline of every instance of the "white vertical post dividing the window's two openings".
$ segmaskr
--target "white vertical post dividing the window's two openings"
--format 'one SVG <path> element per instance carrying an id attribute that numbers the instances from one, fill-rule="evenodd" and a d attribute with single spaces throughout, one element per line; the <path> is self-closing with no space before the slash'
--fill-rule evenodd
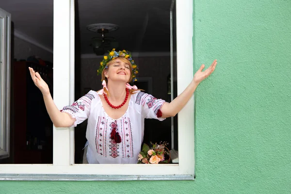
<path id="1" fill-rule="evenodd" d="M 53 100 L 59 110 L 70 104 L 70 0 L 53 1 Z M 53 127 L 53 165 L 70 165 L 69 128 Z"/>

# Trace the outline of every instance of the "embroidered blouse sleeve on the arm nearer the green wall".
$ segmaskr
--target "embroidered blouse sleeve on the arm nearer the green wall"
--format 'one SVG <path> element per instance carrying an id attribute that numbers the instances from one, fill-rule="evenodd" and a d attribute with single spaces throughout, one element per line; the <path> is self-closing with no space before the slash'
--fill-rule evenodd
<path id="1" fill-rule="evenodd" d="M 154 118 L 160 121 L 162 118 L 161 107 L 165 100 L 153 97 L 150 94 L 139 92 L 136 96 L 135 103 L 141 105 L 141 113 L 144 118 Z"/>

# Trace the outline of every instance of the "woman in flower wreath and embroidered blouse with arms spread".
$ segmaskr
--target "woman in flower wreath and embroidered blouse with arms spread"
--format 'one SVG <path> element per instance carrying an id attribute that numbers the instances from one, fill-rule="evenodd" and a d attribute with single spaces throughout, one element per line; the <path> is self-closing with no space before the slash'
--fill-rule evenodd
<path id="1" fill-rule="evenodd" d="M 129 82 L 138 73 L 137 66 L 130 52 L 113 49 L 104 56 L 98 69 L 98 73 L 102 72 L 103 89 L 91 90 L 62 111 L 54 104 L 46 82 L 32 68 L 29 70 L 34 84 L 43 94 L 55 127 L 75 127 L 88 119 L 84 163 L 137 163 L 144 137 L 144 119 L 162 121 L 175 116 L 198 84 L 214 71 L 216 64 L 214 60 L 204 72 L 204 65 L 201 65 L 188 87 L 168 103 L 130 86 Z"/>

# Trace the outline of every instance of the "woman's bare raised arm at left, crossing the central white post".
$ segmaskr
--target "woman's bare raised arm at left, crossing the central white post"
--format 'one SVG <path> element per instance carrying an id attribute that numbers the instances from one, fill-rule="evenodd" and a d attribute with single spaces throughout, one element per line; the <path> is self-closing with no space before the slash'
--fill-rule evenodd
<path id="1" fill-rule="evenodd" d="M 29 67 L 29 71 L 32 77 L 32 81 L 40 89 L 45 105 L 47 108 L 47 111 L 49 113 L 49 117 L 54 124 L 55 127 L 70 127 L 74 124 L 76 119 L 72 118 L 69 114 L 67 113 L 61 113 L 57 106 L 55 105 L 50 92 L 49 92 L 49 86 L 48 84 L 40 77 L 38 72 L 34 72 L 34 70 Z"/>

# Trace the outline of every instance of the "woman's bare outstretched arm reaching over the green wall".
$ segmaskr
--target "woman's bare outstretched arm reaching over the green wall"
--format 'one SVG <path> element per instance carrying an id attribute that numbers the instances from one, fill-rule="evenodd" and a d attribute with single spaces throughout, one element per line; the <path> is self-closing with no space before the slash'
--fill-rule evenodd
<path id="1" fill-rule="evenodd" d="M 166 118 L 170 116 L 175 116 L 180 110 L 182 110 L 182 108 L 189 101 L 190 97 L 193 95 L 199 83 L 206 79 L 214 71 L 216 64 L 217 60 L 215 59 L 213 63 L 208 67 L 208 69 L 206 69 L 205 71 L 202 71 L 205 67 L 205 65 L 202 64 L 199 70 L 194 74 L 194 78 L 191 81 L 191 83 L 187 86 L 187 88 L 172 102 L 170 103 L 165 102 L 162 105 L 161 108 L 162 117 Z"/>

